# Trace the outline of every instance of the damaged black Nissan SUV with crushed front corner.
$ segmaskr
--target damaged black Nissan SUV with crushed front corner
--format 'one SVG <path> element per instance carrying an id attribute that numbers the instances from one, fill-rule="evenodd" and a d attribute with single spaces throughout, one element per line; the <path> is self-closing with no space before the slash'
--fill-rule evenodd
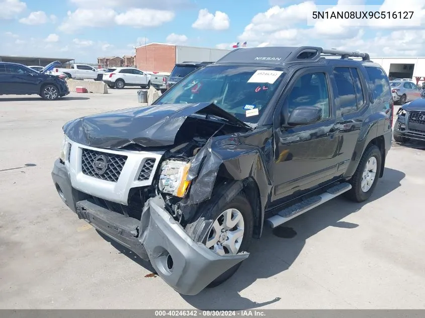
<path id="1" fill-rule="evenodd" d="M 366 53 L 235 49 L 148 107 L 66 123 L 52 178 L 78 218 L 193 295 L 236 272 L 265 223 L 367 200 L 392 113 Z"/>

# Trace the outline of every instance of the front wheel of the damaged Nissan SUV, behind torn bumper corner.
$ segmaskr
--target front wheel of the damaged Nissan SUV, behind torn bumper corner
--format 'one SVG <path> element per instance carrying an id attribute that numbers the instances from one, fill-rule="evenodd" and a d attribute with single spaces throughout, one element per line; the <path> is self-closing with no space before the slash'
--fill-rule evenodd
<path id="1" fill-rule="evenodd" d="M 222 192 L 222 191 L 217 191 Z M 228 200 L 218 193 L 201 206 L 196 221 L 187 225 L 186 231 L 197 242 L 202 242 L 220 256 L 236 255 L 247 251 L 251 243 L 253 213 L 243 192 Z M 215 287 L 229 279 L 241 263 L 214 279 L 207 287 Z"/>

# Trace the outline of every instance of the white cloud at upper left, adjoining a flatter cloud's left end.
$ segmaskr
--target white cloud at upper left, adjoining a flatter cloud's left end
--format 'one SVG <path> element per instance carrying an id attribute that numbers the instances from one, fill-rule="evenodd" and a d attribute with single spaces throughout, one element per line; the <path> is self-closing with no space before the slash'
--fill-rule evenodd
<path id="1" fill-rule="evenodd" d="M 65 21 L 59 26 L 59 31 L 73 33 L 85 27 L 105 27 L 112 25 L 116 12 L 112 9 L 77 9 L 68 11 Z"/>

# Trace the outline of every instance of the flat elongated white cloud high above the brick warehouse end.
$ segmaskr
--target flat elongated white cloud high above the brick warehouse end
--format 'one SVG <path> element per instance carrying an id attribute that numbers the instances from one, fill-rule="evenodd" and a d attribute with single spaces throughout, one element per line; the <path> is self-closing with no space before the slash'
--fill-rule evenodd
<path id="1" fill-rule="evenodd" d="M 131 27 L 157 27 L 174 19 L 173 11 L 153 9 L 131 9 L 115 17 L 118 25 Z"/>

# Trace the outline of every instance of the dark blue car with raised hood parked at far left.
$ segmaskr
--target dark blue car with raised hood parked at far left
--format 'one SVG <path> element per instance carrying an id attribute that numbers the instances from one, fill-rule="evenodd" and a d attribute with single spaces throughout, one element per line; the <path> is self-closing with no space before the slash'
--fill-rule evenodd
<path id="1" fill-rule="evenodd" d="M 0 95 L 38 94 L 43 99 L 56 100 L 69 94 L 63 79 L 45 74 L 54 63 L 37 72 L 22 64 L 0 62 Z"/>

